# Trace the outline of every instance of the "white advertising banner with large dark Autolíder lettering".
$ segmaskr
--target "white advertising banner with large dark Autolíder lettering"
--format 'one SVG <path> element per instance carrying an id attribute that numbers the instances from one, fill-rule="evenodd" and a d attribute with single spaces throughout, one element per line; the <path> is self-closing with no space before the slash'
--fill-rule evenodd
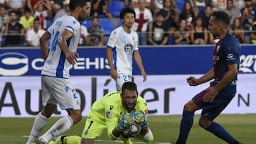
<path id="1" fill-rule="evenodd" d="M 148 103 L 149 115 L 182 114 L 183 105 L 209 85 L 190 87 L 186 83 L 188 76 L 148 75 L 146 82 L 142 82 L 142 76 L 134 76 L 139 94 Z M 239 74 L 238 92 L 223 113 L 256 113 L 255 77 L 256 74 Z M 87 116 L 93 101 L 115 90 L 110 76 L 73 76 L 70 79 L 80 95 L 83 116 Z M 40 76 L 0 77 L 0 94 L 0 117 L 31 117 L 42 109 Z M 58 108 L 54 116 L 65 115 L 67 113 Z"/>

